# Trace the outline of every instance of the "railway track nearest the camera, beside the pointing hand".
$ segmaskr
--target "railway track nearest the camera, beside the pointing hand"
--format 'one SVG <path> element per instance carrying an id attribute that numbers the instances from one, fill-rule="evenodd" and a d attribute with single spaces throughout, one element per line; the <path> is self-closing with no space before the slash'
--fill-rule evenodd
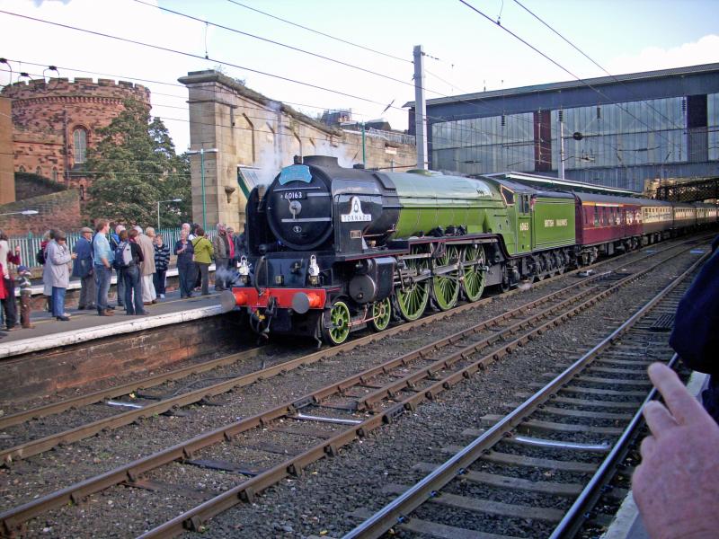
<path id="1" fill-rule="evenodd" d="M 510 536 L 553 539 L 574 536 L 587 521 L 606 526 L 611 516 L 594 504 L 635 441 L 644 403 L 656 397 L 646 367 L 678 361 L 668 342 L 673 314 L 706 256 L 514 410 L 484 416 L 483 429 L 466 429 L 472 441 L 445 447 L 447 461 L 415 464 L 415 473 L 426 473 L 419 482 L 387 485 L 385 493 L 397 497 L 376 513 L 352 513 L 364 521 L 343 539 L 390 529 L 507 537 L 508 520 Z"/>

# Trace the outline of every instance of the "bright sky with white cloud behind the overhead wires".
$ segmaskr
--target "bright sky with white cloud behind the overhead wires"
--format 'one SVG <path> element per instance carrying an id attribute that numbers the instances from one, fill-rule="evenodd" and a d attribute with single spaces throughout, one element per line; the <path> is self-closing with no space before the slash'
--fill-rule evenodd
<path id="1" fill-rule="evenodd" d="M 177 79 L 191 71 L 220 69 L 310 116 L 351 109 L 354 119 L 406 129 L 415 45 L 427 55 L 428 99 L 607 75 L 602 68 L 620 75 L 719 62 L 719 0 L 466 3 L 491 20 L 460 0 L 0 0 L 0 57 L 13 82 L 54 65 L 63 77 L 146 85 L 178 152 L 190 127 Z M 10 80 L 0 64 L 0 85 Z"/>

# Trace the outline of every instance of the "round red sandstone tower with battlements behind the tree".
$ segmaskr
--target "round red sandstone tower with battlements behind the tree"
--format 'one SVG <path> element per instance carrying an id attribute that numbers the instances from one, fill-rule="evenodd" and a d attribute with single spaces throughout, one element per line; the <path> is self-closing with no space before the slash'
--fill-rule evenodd
<path id="1" fill-rule="evenodd" d="M 99 128 L 123 110 L 125 100 L 150 109 L 150 91 L 139 84 L 109 79 L 67 78 L 31 80 L 8 85 L 2 95 L 13 111 L 13 168 L 84 188 L 87 150 L 100 141 Z"/>

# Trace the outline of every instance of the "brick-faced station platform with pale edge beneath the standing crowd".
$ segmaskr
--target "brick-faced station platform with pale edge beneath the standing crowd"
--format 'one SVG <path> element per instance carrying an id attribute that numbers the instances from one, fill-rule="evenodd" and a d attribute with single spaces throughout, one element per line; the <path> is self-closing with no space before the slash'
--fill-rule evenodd
<path id="1" fill-rule="evenodd" d="M 177 270 L 170 271 L 174 276 L 169 277 L 176 279 Z M 75 297 L 66 298 L 68 322 L 42 308 L 40 285 L 33 287 L 34 327 L 18 324 L 13 331 L 0 331 L 4 399 L 25 400 L 95 382 L 111 383 L 116 376 L 232 353 L 256 340 L 240 313 L 226 313 L 217 292 L 180 298 L 171 285 L 164 299 L 145 305 L 149 314 L 127 315 L 117 307 L 112 316 L 98 316 L 95 310 L 76 308 L 79 282 L 71 282 L 70 288 Z M 116 303 L 114 288 L 113 284 L 110 305 Z"/>

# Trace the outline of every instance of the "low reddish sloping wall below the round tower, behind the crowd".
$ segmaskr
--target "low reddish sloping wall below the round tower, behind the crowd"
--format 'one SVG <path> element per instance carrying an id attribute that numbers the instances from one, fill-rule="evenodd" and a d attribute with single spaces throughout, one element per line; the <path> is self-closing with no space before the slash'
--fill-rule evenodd
<path id="1" fill-rule="evenodd" d="M 0 206 L 0 214 L 19 212 L 24 209 L 38 211 L 35 216 L 0 216 L 0 228 L 7 235 L 43 234 L 49 228 L 66 232 L 75 231 L 80 217 L 80 195 L 75 189 L 62 190 L 32 199 L 18 200 Z"/>

